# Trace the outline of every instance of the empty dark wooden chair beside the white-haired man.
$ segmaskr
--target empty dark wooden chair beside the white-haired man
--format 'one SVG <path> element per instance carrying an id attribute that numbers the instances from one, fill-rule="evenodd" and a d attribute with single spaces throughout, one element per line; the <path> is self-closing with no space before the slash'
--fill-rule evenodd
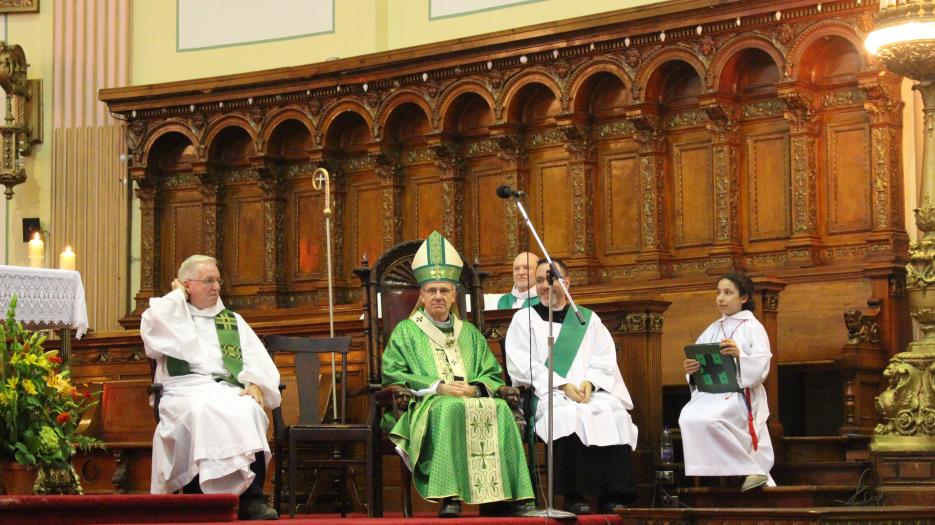
<path id="1" fill-rule="evenodd" d="M 351 348 L 350 337 L 334 338 L 307 338 L 286 337 L 271 335 L 266 338 L 266 348 L 270 352 L 292 352 L 295 354 L 295 377 L 299 400 L 299 420 L 294 425 L 286 425 L 282 411 L 273 417 L 273 428 L 279 439 L 276 440 L 277 473 L 275 479 L 275 505 L 279 510 L 282 503 L 284 473 L 288 470 L 288 483 L 286 486 L 289 495 L 289 515 L 295 516 L 296 510 L 296 472 L 300 466 L 313 465 L 316 471 L 340 471 L 340 479 L 344 480 L 344 498 L 341 507 L 341 516 L 347 513 L 347 483 L 346 475 L 349 468 L 355 464 L 366 471 L 366 497 L 367 513 L 374 516 L 374 494 L 377 491 L 376 479 L 373 472 L 373 428 L 374 422 L 370 410 L 367 420 L 363 423 L 347 423 L 347 355 Z M 339 399 L 340 415 L 334 423 L 322 423 L 318 405 L 320 359 L 322 355 L 335 354 L 340 356 L 341 385 Z M 364 457 L 349 459 L 344 457 L 342 445 L 360 443 L 363 445 Z M 328 445 L 328 457 L 320 456 L 321 446 Z M 316 450 L 315 445 L 319 445 Z M 353 478 L 352 478 L 353 481 Z M 312 486 L 308 501 L 314 501 L 317 496 L 319 479 Z M 356 489 L 354 489 L 356 491 Z"/>

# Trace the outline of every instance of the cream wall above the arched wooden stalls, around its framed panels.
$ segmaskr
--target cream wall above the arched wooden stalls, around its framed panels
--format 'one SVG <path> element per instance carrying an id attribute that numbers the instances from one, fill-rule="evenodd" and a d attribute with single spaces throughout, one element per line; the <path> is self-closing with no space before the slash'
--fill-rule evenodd
<path id="1" fill-rule="evenodd" d="M 133 1 L 133 84 L 311 64 L 331 57 L 400 49 L 660 0 L 533 0 L 436 20 L 429 19 L 430 0 L 334 0 L 333 33 L 178 51 L 177 2 L 185 1 L 191 0 Z M 472 0 L 461 3 L 470 5 Z M 225 16 L 234 14 L 218 12 L 211 23 L 225 24 Z M 244 41 L 253 39 L 243 35 Z"/>

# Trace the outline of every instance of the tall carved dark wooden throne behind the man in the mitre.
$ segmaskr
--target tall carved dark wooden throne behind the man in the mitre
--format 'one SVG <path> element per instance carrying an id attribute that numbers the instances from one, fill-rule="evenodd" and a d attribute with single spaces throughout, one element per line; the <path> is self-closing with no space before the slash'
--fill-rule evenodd
<path id="1" fill-rule="evenodd" d="M 422 245 L 422 240 L 405 241 L 390 248 L 377 259 L 373 267 L 366 259 L 363 266 L 354 273 L 363 286 L 364 331 L 367 338 L 367 359 L 370 370 L 370 388 L 373 393 L 375 422 L 379 425 L 383 414 L 392 412 L 397 418 L 404 412 L 412 398 L 412 392 L 405 388 L 382 386 L 382 355 L 393 329 L 400 321 L 408 319 L 419 297 L 419 284 L 412 273 L 412 258 Z M 484 295 L 481 287 L 482 274 L 476 266 L 465 265 L 457 285 L 458 310 L 461 317 L 471 321 L 483 333 L 484 331 Z M 466 314 L 466 298 L 470 296 L 471 312 Z M 501 387 L 497 397 L 506 399 L 513 409 L 521 434 L 525 430 L 525 420 L 519 412 L 519 394 L 515 388 Z M 397 455 L 393 443 L 379 426 L 374 428 L 374 459 L 382 464 L 384 455 Z M 409 469 L 400 458 L 401 492 L 403 514 L 412 516 L 412 484 Z M 382 472 L 381 472 L 382 475 Z M 381 509 L 382 510 L 382 509 Z"/>

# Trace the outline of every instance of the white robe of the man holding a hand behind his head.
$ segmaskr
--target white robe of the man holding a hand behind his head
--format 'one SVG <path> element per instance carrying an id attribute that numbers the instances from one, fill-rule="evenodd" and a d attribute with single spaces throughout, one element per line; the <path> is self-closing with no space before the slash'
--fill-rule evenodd
<path id="1" fill-rule="evenodd" d="M 199 310 L 179 289 L 150 299 L 143 312 L 140 335 L 146 355 L 156 360 L 154 381 L 163 385 L 153 435 L 154 494 L 179 490 L 195 475 L 206 494 L 240 494 L 255 477 L 250 464 L 256 454 L 270 460 L 269 420 L 263 408 L 250 396 L 241 396 L 241 387 L 215 381 L 229 376 L 214 324 L 214 316 L 223 309 L 218 300 Z M 282 401 L 279 371 L 253 329 L 240 315 L 234 316 L 243 356 L 237 380 L 244 386 L 257 385 L 267 408 L 275 408 Z M 170 376 L 167 356 L 187 361 L 192 373 Z"/>

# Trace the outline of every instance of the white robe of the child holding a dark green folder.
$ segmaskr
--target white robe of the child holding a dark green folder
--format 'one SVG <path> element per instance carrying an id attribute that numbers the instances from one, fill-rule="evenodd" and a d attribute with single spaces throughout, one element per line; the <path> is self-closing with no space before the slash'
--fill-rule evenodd
<path id="1" fill-rule="evenodd" d="M 732 339 L 740 349 L 737 382 L 750 389 L 753 422 L 759 440 L 753 450 L 747 405 L 739 392 L 709 394 L 692 386 L 692 397 L 682 408 L 679 427 L 687 476 L 769 476 L 773 443 L 766 428 L 769 407 L 763 382 L 769 374 L 769 337 L 753 313 L 741 310 L 711 323 L 697 344 Z M 769 478 L 769 486 L 775 486 Z"/>

